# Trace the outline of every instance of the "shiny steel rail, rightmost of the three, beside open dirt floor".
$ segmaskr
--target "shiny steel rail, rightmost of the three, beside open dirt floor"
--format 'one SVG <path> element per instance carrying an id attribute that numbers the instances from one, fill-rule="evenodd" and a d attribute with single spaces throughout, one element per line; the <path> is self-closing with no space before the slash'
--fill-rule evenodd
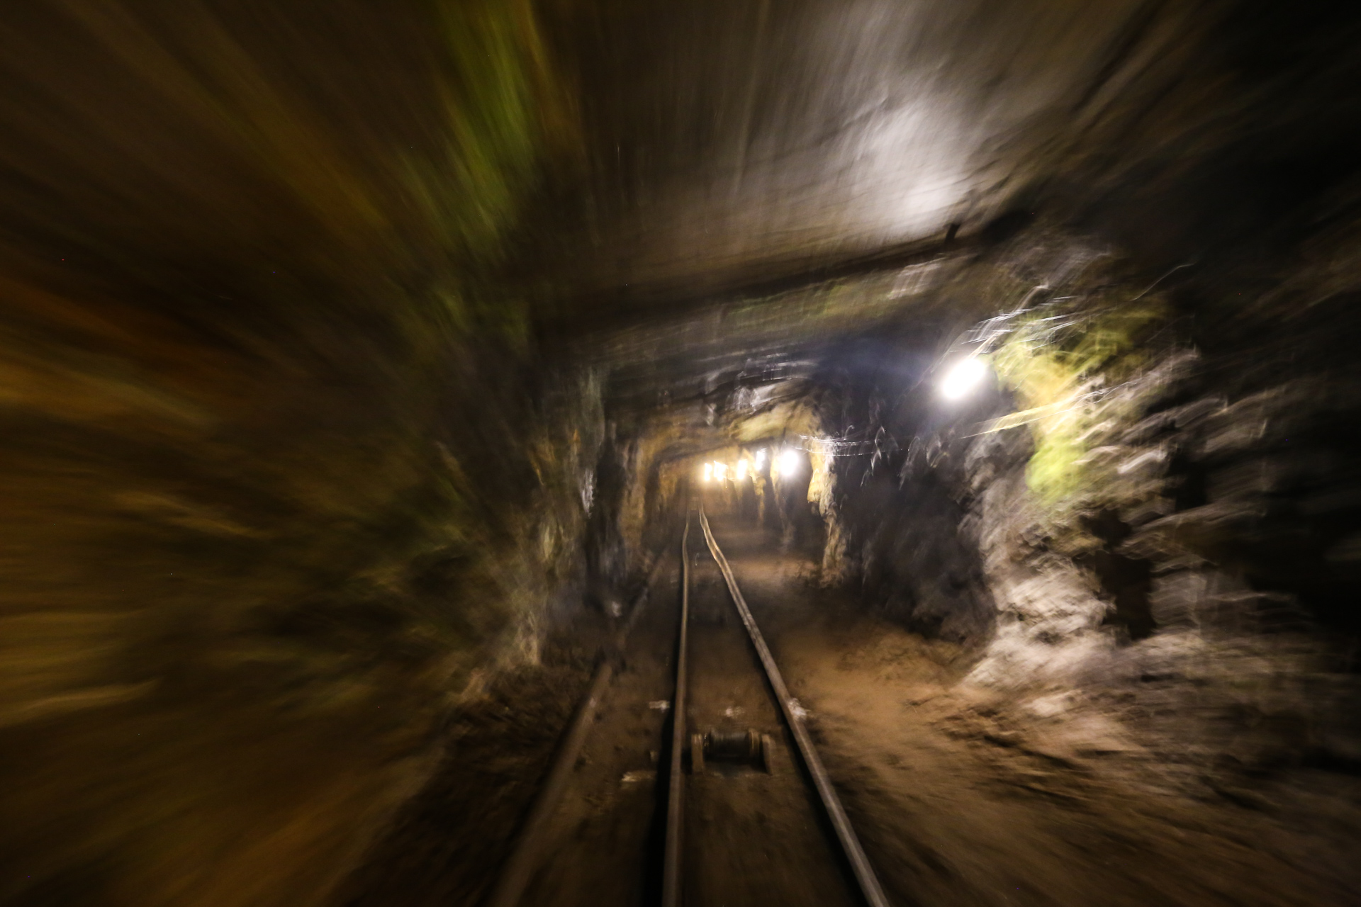
<path id="1" fill-rule="evenodd" d="M 774 698 L 780 702 L 780 711 L 784 713 L 784 721 L 789 726 L 789 733 L 793 734 L 793 740 L 799 745 L 803 764 L 808 767 L 808 774 L 813 775 L 818 797 L 822 798 L 822 805 L 827 810 L 827 817 L 837 832 L 841 849 L 845 851 L 847 859 L 851 861 L 851 869 L 855 872 L 856 881 L 860 883 L 860 891 L 864 893 L 864 899 L 870 903 L 870 907 L 889 907 L 889 900 L 883 895 L 879 878 L 874 874 L 870 858 L 864 855 L 860 839 L 856 838 L 855 828 L 851 827 L 851 820 L 847 817 L 847 810 L 841 806 L 841 798 L 837 797 L 837 791 L 832 786 L 832 779 L 827 776 L 827 770 L 822 766 L 822 759 L 813 745 L 813 737 L 808 736 L 808 729 L 799 714 L 802 708 L 796 710 L 798 702 L 789 695 L 789 688 L 784 685 L 780 668 L 776 666 L 774 658 L 770 655 L 770 649 L 765 645 L 765 638 L 761 635 L 761 630 L 751 616 L 751 609 L 747 608 L 747 602 L 742 597 L 742 590 L 738 589 L 738 581 L 732 577 L 728 559 L 719 549 L 719 543 L 713 537 L 713 530 L 709 529 L 709 518 L 705 515 L 702 506 L 700 507 L 700 526 L 704 529 L 704 540 L 709 543 L 709 553 L 713 555 L 719 570 L 723 572 L 724 582 L 728 583 L 732 604 L 736 605 L 738 613 L 742 616 L 742 623 L 746 624 L 747 635 L 751 636 L 751 645 L 755 646 L 757 654 L 761 657 L 766 679 L 770 681 Z M 666 902 L 663 903 L 666 904 Z M 667 907 L 671 906 L 668 904 Z"/>

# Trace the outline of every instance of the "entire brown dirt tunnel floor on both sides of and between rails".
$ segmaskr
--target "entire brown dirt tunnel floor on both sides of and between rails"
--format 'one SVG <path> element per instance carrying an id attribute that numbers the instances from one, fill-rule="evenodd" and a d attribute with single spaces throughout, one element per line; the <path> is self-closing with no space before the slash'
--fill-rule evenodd
<path id="1" fill-rule="evenodd" d="M 819 589 L 811 560 L 780 553 L 747 524 L 713 526 L 891 903 L 1361 903 L 1345 853 L 1357 829 L 1292 827 L 1270 810 L 1160 790 L 1138 745 L 1098 717 L 1047 723 L 961 685 L 968 653 Z M 860 903 L 697 530 L 690 552 L 689 726 L 751 728 L 776 745 L 772 772 L 715 763 L 687 772 L 685 903 Z M 655 572 L 524 904 L 657 900 L 678 575 L 672 552 Z M 450 761 L 440 802 L 389 842 L 354 904 L 479 902 L 532 793 L 514 772 L 538 778 L 547 764 L 551 734 L 531 729 L 565 722 L 563 699 L 578 689 L 577 674 L 559 680 L 516 691 L 538 695 L 543 714 L 498 729 L 513 752 L 489 729 L 470 732 L 464 747 L 487 748 L 478 764 L 470 768 L 467 751 Z M 512 721 L 501 711 L 512 702 L 498 704 L 479 721 Z M 431 835 L 441 836 L 436 846 Z M 381 868 L 393 859 L 404 866 L 397 876 Z"/>

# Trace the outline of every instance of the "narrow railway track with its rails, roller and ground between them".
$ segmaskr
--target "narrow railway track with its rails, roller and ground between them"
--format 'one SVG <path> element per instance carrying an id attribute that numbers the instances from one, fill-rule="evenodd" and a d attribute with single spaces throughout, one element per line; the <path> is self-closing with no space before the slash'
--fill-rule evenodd
<path id="1" fill-rule="evenodd" d="M 702 536 L 710 556 L 702 556 L 702 549 L 694 544 L 697 536 Z M 651 801 L 652 844 L 642 847 L 638 839 L 641 850 L 626 849 L 637 857 L 600 853 L 599 847 L 587 847 L 587 839 L 580 838 L 570 851 L 553 844 L 554 839 L 572 838 L 572 823 L 577 819 L 569 816 L 581 816 L 580 810 L 558 806 L 563 791 L 573 785 L 577 789 L 568 795 L 569 801 L 585 797 L 596 804 L 619 802 L 599 786 L 592 787 L 583 772 L 593 770 L 581 766 L 592 763 L 592 747 L 597 757 L 606 757 L 610 744 L 619 740 L 621 726 L 611 726 L 610 707 L 602 713 L 602 702 L 634 696 L 633 677 L 637 674 L 627 683 L 621 677 L 621 685 L 612 692 L 606 689 L 608 665 L 622 664 L 625 630 L 612 651 L 602 653 L 602 668 L 563 736 L 517 844 L 485 903 L 489 907 L 583 903 L 580 889 L 573 900 L 573 895 L 554 891 L 547 880 L 570 878 L 577 872 L 573 868 L 583 865 L 576 861 L 595 863 L 589 872 L 597 877 L 602 872 L 618 876 L 618 859 L 622 858 L 630 866 L 626 876 L 641 870 L 652 883 L 644 883 L 636 896 L 619 900 L 623 895 L 619 891 L 606 900 L 636 903 L 641 896 L 641 903 L 660 900 L 664 907 L 709 903 L 819 907 L 867 903 L 885 907 L 883 891 L 804 725 L 807 713 L 785 687 L 702 507 L 687 514 L 679 549 L 678 619 L 672 617 L 675 624 L 670 624 L 663 612 L 653 612 L 644 621 L 655 628 L 649 634 L 661 631 L 657 620 L 674 627 L 666 631 L 674 632 L 670 643 L 674 649 L 668 649 L 670 657 L 663 657 L 656 646 L 667 646 L 667 636 L 645 634 L 630 646 L 634 657 L 625 660 L 636 666 L 644 664 L 637 661 L 642 654 L 638 643 L 651 638 L 653 642 L 648 646 L 653 654 L 645 664 L 655 665 L 649 670 L 663 673 L 653 674 L 655 680 L 646 685 L 661 692 L 655 684 L 667 683 L 670 670 L 675 674 L 671 702 L 652 703 L 653 708 L 670 706 L 664 725 L 652 725 L 651 732 L 655 734 L 652 745 L 660 751 L 653 752 L 659 770 L 656 781 L 663 785 Z M 642 604 L 640 598 L 626 627 L 637 621 Z M 732 615 L 739 620 L 731 621 Z M 603 723 L 596 726 L 597 721 Z M 637 734 L 637 730 L 630 733 Z M 619 751 L 619 747 L 612 749 Z M 626 774 L 637 776 L 640 772 Z M 629 802 L 636 813 L 640 808 L 648 809 L 645 801 L 636 797 Z M 553 819 L 555 813 L 557 820 Z M 645 815 L 608 821 L 619 827 L 632 821 L 629 827 L 641 831 L 638 821 Z M 531 885 L 535 877 L 539 881 Z M 589 903 L 603 902 L 592 899 Z"/>

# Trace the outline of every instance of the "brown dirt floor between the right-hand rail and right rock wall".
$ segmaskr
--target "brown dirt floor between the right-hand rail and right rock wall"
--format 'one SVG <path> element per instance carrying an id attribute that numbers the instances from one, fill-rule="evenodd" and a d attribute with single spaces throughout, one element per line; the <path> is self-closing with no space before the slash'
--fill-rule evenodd
<path id="1" fill-rule="evenodd" d="M 1356 829 L 1158 793 L 1117 729 L 960 687 L 958 649 L 818 590 L 761 533 L 715 532 L 894 903 L 1361 903 L 1337 853 Z"/>

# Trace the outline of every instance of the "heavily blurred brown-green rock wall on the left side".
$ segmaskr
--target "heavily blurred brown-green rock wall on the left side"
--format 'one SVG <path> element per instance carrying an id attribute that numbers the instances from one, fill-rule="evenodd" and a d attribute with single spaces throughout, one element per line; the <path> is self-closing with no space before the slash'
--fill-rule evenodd
<path id="1" fill-rule="evenodd" d="M 0 902 L 321 903 L 585 583 L 599 381 L 495 277 L 572 102 L 514 0 L 0 31 Z"/>

